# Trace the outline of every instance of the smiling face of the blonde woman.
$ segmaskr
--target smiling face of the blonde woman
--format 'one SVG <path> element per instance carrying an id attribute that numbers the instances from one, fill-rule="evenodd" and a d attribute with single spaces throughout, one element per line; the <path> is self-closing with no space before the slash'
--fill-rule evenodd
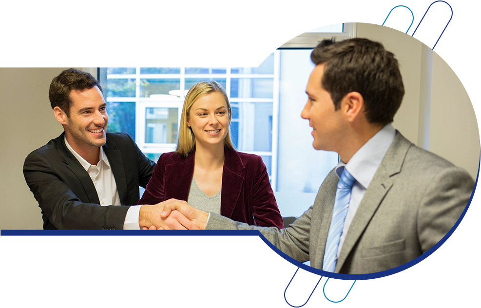
<path id="1" fill-rule="evenodd" d="M 229 132 L 229 115 L 225 98 L 217 92 L 197 98 L 187 117 L 195 144 L 202 146 L 224 143 Z"/>

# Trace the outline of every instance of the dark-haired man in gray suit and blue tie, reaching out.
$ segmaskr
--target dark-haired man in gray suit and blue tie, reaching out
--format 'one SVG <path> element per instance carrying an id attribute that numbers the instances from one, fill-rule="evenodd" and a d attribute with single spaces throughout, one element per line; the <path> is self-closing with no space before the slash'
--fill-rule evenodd
<path id="1" fill-rule="evenodd" d="M 260 228 L 171 200 L 200 229 L 259 230 L 292 258 L 317 269 L 363 274 L 420 256 L 453 227 L 474 188 L 461 168 L 416 147 L 391 122 L 404 86 L 394 55 L 368 39 L 322 41 L 301 116 L 313 147 L 340 162 L 314 205 L 288 228 Z"/>

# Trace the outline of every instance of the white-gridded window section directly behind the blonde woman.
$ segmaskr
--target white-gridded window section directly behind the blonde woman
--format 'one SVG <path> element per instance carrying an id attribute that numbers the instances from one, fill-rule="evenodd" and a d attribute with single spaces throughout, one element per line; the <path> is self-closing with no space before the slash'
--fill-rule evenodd
<path id="1" fill-rule="evenodd" d="M 106 93 L 108 132 L 131 135 L 139 149 L 157 161 L 175 150 L 178 123 L 189 89 L 215 80 L 232 108 L 231 135 L 236 149 L 257 154 L 277 181 L 279 51 L 259 67 L 107 67 L 99 69 Z"/>

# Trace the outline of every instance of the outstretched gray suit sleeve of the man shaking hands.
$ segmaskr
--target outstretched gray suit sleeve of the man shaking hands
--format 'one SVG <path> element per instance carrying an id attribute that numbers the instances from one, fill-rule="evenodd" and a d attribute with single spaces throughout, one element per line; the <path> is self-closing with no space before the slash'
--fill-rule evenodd
<path id="1" fill-rule="evenodd" d="M 289 257 L 299 261 L 309 260 L 309 230 L 312 207 L 286 229 L 276 227 L 249 226 L 246 223 L 236 222 L 227 217 L 211 213 L 206 230 L 258 230 L 277 249 Z"/>

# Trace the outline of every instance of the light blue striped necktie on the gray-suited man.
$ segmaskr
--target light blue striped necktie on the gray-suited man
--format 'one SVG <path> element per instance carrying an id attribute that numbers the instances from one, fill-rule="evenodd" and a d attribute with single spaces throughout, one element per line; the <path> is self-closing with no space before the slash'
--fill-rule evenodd
<path id="1" fill-rule="evenodd" d="M 354 183 L 354 177 L 346 170 L 345 167 L 341 178 L 337 183 L 336 200 L 334 201 L 334 210 L 332 211 L 332 220 L 327 233 L 326 249 L 324 250 L 324 261 L 322 270 L 334 272 L 337 264 L 337 250 L 339 249 L 339 241 L 343 233 L 344 221 L 346 220 L 347 209 L 351 199 L 351 187 Z"/>

